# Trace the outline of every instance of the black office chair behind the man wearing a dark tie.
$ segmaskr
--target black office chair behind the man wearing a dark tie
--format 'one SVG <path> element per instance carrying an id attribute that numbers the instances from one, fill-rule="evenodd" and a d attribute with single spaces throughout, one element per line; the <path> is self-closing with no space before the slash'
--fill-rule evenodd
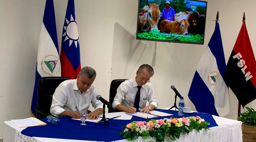
<path id="1" fill-rule="evenodd" d="M 116 96 L 116 89 L 118 88 L 118 86 L 124 82 L 125 80 L 127 79 L 115 79 L 115 80 L 112 80 L 111 81 L 111 84 L 110 84 L 110 91 L 109 91 L 109 102 L 112 104 L 113 101 L 114 101 L 114 98 Z M 119 110 L 111 110 L 111 109 L 108 109 L 108 113 L 110 112 L 120 112 Z"/>

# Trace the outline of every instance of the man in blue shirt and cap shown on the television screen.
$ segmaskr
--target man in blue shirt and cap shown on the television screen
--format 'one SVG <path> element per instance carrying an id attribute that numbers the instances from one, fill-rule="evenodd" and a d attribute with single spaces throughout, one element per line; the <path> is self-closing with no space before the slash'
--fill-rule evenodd
<path id="1" fill-rule="evenodd" d="M 166 1 L 165 8 L 163 9 L 162 17 L 161 17 L 160 21 L 163 21 L 165 19 L 174 21 L 174 17 L 175 17 L 174 9 L 172 7 L 170 7 L 170 2 Z"/>

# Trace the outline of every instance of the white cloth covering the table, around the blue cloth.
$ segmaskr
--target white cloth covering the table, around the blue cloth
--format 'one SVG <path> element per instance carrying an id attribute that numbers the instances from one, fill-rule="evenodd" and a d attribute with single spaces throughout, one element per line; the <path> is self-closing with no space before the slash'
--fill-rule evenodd
<path id="1" fill-rule="evenodd" d="M 169 109 L 169 108 L 163 108 Z M 115 114 L 115 113 L 113 113 Z M 119 113 L 120 114 L 120 113 Z M 223 118 L 219 116 L 212 116 L 218 126 L 211 127 L 210 130 L 202 130 L 200 133 L 192 131 L 189 134 L 181 134 L 177 142 L 242 142 L 242 122 Z M 25 128 L 19 128 L 11 121 L 4 122 L 4 142 L 88 142 L 86 140 L 74 140 L 74 139 L 60 139 L 60 138 L 42 138 L 42 137 L 28 137 L 21 134 L 21 131 Z M 138 138 L 133 142 L 149 141 L 150 138 Z M 155 138 L 153 138 L 155 141 Z M 171 141 L 169 137 L 165 137 L 164 141 Z M 128 142 L 126 139 L 118 140 L 118 142 Z M 129 141 L 130 142 L 130 141 Z"/>

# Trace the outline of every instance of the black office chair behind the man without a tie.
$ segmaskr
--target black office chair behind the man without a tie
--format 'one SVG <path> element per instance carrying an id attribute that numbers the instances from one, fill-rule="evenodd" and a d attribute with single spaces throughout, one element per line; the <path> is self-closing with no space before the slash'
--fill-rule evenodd
<path id="1" fill-rule="evenodd" d="M 38 81 L 36 118 L 46 118 L 51 115 L 52 95 L 61 82 L 68 80 L 66 77 L 42 77 Z"/>

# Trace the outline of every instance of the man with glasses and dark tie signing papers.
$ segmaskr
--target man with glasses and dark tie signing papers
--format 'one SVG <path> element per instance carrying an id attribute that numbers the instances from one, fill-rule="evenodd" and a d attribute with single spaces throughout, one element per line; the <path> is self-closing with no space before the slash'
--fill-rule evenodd
<path id="1" fill-rule="evenodd" d="M 153 68 L 143 64 L 136 72 L 136 77 L 125 80 L 116 90 L 116 97 L 113 101 L 113 108 L 135 113 L 137 110 L 143 113 L 150 113 L 150 110 L 157 108 L 158 102 L 154 95 L 154 89 L 150 78 L 154 75 Z M 147 101 L 149 105 L 146 106 Z"/>

